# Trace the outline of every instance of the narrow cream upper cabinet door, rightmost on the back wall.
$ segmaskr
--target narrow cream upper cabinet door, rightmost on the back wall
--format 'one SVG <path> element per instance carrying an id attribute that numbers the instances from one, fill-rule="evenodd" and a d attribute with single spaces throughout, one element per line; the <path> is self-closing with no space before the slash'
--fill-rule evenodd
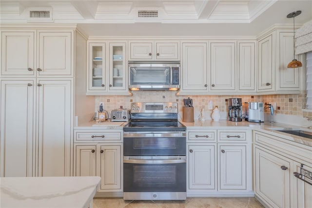
<path id="1" fill-rule="evenodd" d="M 238 90 L 255 91 L 255 43 L 238 42 Z"/>

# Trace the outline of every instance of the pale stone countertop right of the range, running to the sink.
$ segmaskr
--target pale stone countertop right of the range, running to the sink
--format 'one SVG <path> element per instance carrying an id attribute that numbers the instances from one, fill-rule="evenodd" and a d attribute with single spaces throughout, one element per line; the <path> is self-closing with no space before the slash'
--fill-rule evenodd
<path id="1" fill-rule="evenodd" d="M 195 121 L 193 123 L 188 122 L 181 122 L 183 125 L 186 126 L 187 130 L 191 129 L 242 129 L 242 130 L 258 130 L 264 133 L 271 134 L 273 136 L 281 137 L 283 139 L 287 139 L 289 141 L 293 141 L 296 143 L 300 143 L 307 146 L 312 146 L 312 139 L 300 137 L 284 132 L 277 131 L 278 129 L 284 129 L 284 128 L 292 128 L 292 129 L 300 129 L 304 131 L 310 131 L 309 128 L 304 128 L 300 126 L 295 125 L 285 125 L 285 124 L 279 124 L 279 123 L 252 123 L 247 121 L 242 122 L 231 122 L 228 120 L 219 120 L 219 121 L 213 121 L 213 120 L 207 120 L 207 121 Z"/>

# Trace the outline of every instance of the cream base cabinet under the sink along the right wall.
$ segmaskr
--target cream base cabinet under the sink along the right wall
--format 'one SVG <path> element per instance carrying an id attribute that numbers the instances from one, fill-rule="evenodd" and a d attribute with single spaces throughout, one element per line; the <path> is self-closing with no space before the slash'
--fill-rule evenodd
<path id="1" fill-rule="evenodd" d="M 253 134 L 255 196 L 266 207 L 311 207 L 312 186 L 293 173 L 301 173 L 301 164 L 312 171 L 312 147 L 271 132 L 254 130 Z"/>

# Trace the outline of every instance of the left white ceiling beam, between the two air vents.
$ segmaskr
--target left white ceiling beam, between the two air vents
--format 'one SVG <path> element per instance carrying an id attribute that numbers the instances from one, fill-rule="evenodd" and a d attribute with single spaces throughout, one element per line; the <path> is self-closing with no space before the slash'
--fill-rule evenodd
<path id="1" fill-rule="evenodd" d="M 71 4 L 77 9 L 77 11 L 85 20 L 95 19 L 98 10 L 97 0 L 75 0 L 71 1 Z"/>

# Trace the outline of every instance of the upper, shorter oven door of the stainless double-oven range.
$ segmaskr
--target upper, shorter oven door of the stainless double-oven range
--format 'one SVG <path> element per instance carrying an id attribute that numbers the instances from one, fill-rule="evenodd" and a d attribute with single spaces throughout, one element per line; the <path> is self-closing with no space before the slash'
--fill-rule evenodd
<path id="1" fill-rule="evenodd" d="M 124 132 L 123 155 L 186 155 L 186 133 Z"/>

